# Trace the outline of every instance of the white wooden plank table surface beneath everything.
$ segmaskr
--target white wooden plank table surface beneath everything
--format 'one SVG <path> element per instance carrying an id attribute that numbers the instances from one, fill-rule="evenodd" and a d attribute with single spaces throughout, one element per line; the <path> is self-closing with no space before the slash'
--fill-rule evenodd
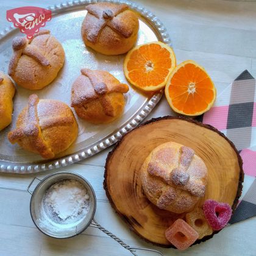
<path id="1" fill-rule="evenodd" d="M 48 7 L 61 0 L 1 0 L 0 30 L 9 26 L 5 12 L 19 6 Z M 152 10 L 171 36 L 177 63 L 193 59 L 207 69 L 218 93 L 241 71 L 256 77 L 256 2 L 250 0 L 137 0 Z M 0 64 L 1 60 L 0 60 Z M 148 119 L 169 115 L 163 97 Z M 81 174 L 96 191 L 96 220 L 131 246 L 158 249 L 165 255 L 256 255 L 256 218 L 226 227 L 211 240 L 185 252 L 162 249 L 140 240 L 113 212 L 102 187 L 105 150 L 88 160 L 57 169 Z M 53 171 L 44 172 L 46 176 Z M 38 174 L 37 174 L 38 175 Z M 30 218 L 26 188 L 35 175 L 0 174 L 0 255 L 130 255 L 104 233 L 89 227 L 82 235 L 56 240 L 43 235 Z M 140 255 L 149 255 L 142 254 Z M 150 254 L 153 255 L 153 254 Z"/>

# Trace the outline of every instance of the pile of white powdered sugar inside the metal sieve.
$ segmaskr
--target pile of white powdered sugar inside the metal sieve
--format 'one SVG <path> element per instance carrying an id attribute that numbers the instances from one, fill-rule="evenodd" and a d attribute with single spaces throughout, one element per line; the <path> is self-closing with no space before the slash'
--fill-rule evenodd
<path id="1" fill-rule="evenodd" d="M 44 195 L 44 209 L 52 219 L 68 221 L 85 216 L 90 207 L 90 194 L 77 180 L 60 180 Z M 58 221 L 58 222 L 59 222 Z"/>

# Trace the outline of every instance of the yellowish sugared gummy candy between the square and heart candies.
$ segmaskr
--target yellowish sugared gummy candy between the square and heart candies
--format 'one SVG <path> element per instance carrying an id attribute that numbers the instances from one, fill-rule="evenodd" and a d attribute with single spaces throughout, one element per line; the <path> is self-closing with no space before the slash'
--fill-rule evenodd
<path id="1" fill-rule="evenodd" d="M 204 217 L 202 208 L 196 208 L 193 212 L 187 213 L 186 221 L 194 230 L 196 230 L 199 239 L 202 239 L 206 235 L 212 235 L 213 233 L 212 227 Z"/>

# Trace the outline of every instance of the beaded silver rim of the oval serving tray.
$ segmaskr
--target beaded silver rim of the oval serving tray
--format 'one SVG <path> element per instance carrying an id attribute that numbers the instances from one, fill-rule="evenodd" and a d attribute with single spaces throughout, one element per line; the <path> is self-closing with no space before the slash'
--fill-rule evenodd
<path id="1" fill-rule="evenodd" d="M 171 39 L 166 30 L 166 27 L 163 23 L 155 16 L 151 11 L 145 9 L 142 5 L 139 5 L 135 2 L 123 1 L 123 0 L 77 0 L 77 1 L 67 1 L 58 5 L 53 5 L 48 7 L 48 10 L 52 11 L 52 16 L 57 15 L 62 12 L 66 12 L 72 9 L 79 9 L 87 4 L 94 4 L 96 2 L 112 2 L 116 4 L 127 4 L 129 8 L 134 10 L 135 12 L 140 13 L 155 29 L 155 31 L 160 35 L 161 41 L 163 43 L 169 44 L 171 46 Z M 6 35 L 15 30 L 16 27 L 10 25 L 6 27 L 4 30 L 0 31 L 0 40 L 4 38 Z M 15 162 L 5 162 L 0 160 L 0 172 L 11 172 L 11 173 L 19 173 L 19 174 L 29 174 L 41 171 L 48 171 L 54 168 L 60 168 L 63 166 L 71 165 L 73 163 L 84 160 L 88 157 L 91 157 L 98 152 L 112 146 L 116 142 L 118 142 L 123 135 L 125 135 L 130 130 L 137 127 L 141 121 L 143 121 L 146 116 L 151 113 L 155 105 L 157 105 L 158 101 L 162 98 L 163 91 L 155 93 L 151 99 L 149 99 L 146 104 L 143 105 L 143 109 L 140 112 L 135 113 L 135 116 L 129 119 L 126 124 L 121 126 L 117 132 L 113 132 L 107 138 L 103 138 L 98 143 L 94 143 L 92 146 L 83 149 L 82 151 L 76 152 L 71 155 L 66 155 L 65 157 L 60 157 L 55 160 L 50 160 L 47 163 L 24 163 L 23 165 L 16 164 Z"/>

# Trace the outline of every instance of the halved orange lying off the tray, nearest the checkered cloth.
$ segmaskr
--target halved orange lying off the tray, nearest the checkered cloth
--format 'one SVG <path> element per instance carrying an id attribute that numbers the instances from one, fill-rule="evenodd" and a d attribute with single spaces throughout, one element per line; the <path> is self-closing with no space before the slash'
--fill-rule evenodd
<path id="1" fill-rule="evenodd" d="M 177 65 L 168 77 L 165 96 L 175 112 L 197 116 L 212 107 L 216 88 L 202 66 L 186 60 Z"/>

